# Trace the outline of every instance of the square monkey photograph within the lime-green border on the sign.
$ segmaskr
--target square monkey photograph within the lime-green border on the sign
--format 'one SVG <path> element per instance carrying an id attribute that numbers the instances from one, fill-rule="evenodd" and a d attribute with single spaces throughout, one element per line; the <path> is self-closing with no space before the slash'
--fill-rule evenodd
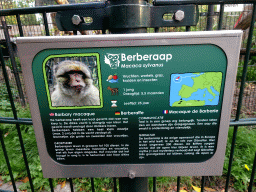
<path id="1" fill-rule="evenodd" d="M 45 69 L 52 107 L 100 106 L 97 62 L 96 59 L 90 62 L 93 59 L 92 56 L 89 59 L 53 58 L 47 62 Z"/>

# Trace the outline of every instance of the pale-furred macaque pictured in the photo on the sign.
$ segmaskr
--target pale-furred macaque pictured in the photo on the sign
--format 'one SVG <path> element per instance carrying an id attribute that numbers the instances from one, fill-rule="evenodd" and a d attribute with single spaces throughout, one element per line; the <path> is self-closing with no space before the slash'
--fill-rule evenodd
<path id="1" fill-rule="evenodd" d="M 79 61 L 65 60 L 55 68 L 53 107 L 100 105 L 99 90 L 93 85 L 90 69 Z"/>

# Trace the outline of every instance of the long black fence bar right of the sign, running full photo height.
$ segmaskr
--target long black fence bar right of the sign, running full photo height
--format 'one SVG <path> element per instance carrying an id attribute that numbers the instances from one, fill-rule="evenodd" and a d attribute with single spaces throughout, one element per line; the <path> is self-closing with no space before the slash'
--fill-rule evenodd
<path id="1" fill-rule="evenodd" d="M 236 121 L 239 120 L 239 115 L 240 115 L 241 107 L 242 107 L 242 103 L 243 103 L 244 85 L 245 85 L 246 72 L 247 72 L 249 57 L 250 57 L 250 49 L 251 49 L 251 44 L 252 44 L 252 36 L 253 36 L 255 18 L 256 18 L 256 3 L 253 4 L 253 14 L 252 14 L 251 26 L 250 26 L 250 30 L 249 30 L 249 36 L 248 36 L 248 40 L 247 40 L 246 54 L 245 54 L 245 60 L 244 60 L 244 69 L 243 69 L 240 93 L 239 93 L 238 104 L 237 104 L 236 119 L 235 119 Z M 230 179 L 230 175 L 231 175 L 231 168 L 232 168 L 233 155 L 234 155 L 234 150 L 235 150 L 235 140 L 236 140 L 236 135 L 237 135 L 237 129 L 238 129 L 238 126 L 235 126 L 234 133 L 233 133 L 231 152 L 230 152 L 230 157 L 229 157 L 229 166 L 228 166 L 228 174 L 227 174 L 225 192 L 228 192 L 228 188 L 229 188 L 229 179 Z"/>

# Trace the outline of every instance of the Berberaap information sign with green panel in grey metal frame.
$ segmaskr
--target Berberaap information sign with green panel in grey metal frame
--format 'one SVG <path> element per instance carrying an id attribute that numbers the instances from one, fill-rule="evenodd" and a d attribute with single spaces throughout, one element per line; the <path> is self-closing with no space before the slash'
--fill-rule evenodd
<path id="1" fill-rule="evenodd" d="M 44 176 L 220 175 L 241 34 L 18 38 Z"/>

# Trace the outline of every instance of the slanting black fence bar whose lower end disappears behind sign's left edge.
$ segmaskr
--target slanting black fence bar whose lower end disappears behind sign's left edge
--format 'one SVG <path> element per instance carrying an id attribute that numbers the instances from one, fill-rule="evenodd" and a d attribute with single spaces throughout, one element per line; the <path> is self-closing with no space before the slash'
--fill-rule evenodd
<path id="1" fill-rule="evenodd" d="M 23 94 L 21 81 L 20 81 L 20 77 L 19 77 L 19 72 L 18 72 L 18 69 L 17 69 L 17 64 L 16 64 L 16 61 L 15 61 L 13 48 L 12 48 L 12 45 L 11 45 L 10 35 L 9 35 L 9 32 L 8 32 L 7 24 L 5 22 L 4 17 L 1 17 L 1 22 L 2 22 L 3 29 L 4 29 L 4 36 L 5 36 L 6 44 L 7 44 L 7 47 L 8 47 L 9 54 L 10 54 L 10 59 L 11 59 L 12 67 L 13 67 L 13 73 L 14 73 L 14 77 L 15 77 L 15 80 L 16 80 L 16 85 L 17 85 L 18 92 L 19 92 L 19 97 L 20 97 L 22 106 L 25 106 L 26 105 L 25 97 L 24 97 L 24 94 Z"/>

